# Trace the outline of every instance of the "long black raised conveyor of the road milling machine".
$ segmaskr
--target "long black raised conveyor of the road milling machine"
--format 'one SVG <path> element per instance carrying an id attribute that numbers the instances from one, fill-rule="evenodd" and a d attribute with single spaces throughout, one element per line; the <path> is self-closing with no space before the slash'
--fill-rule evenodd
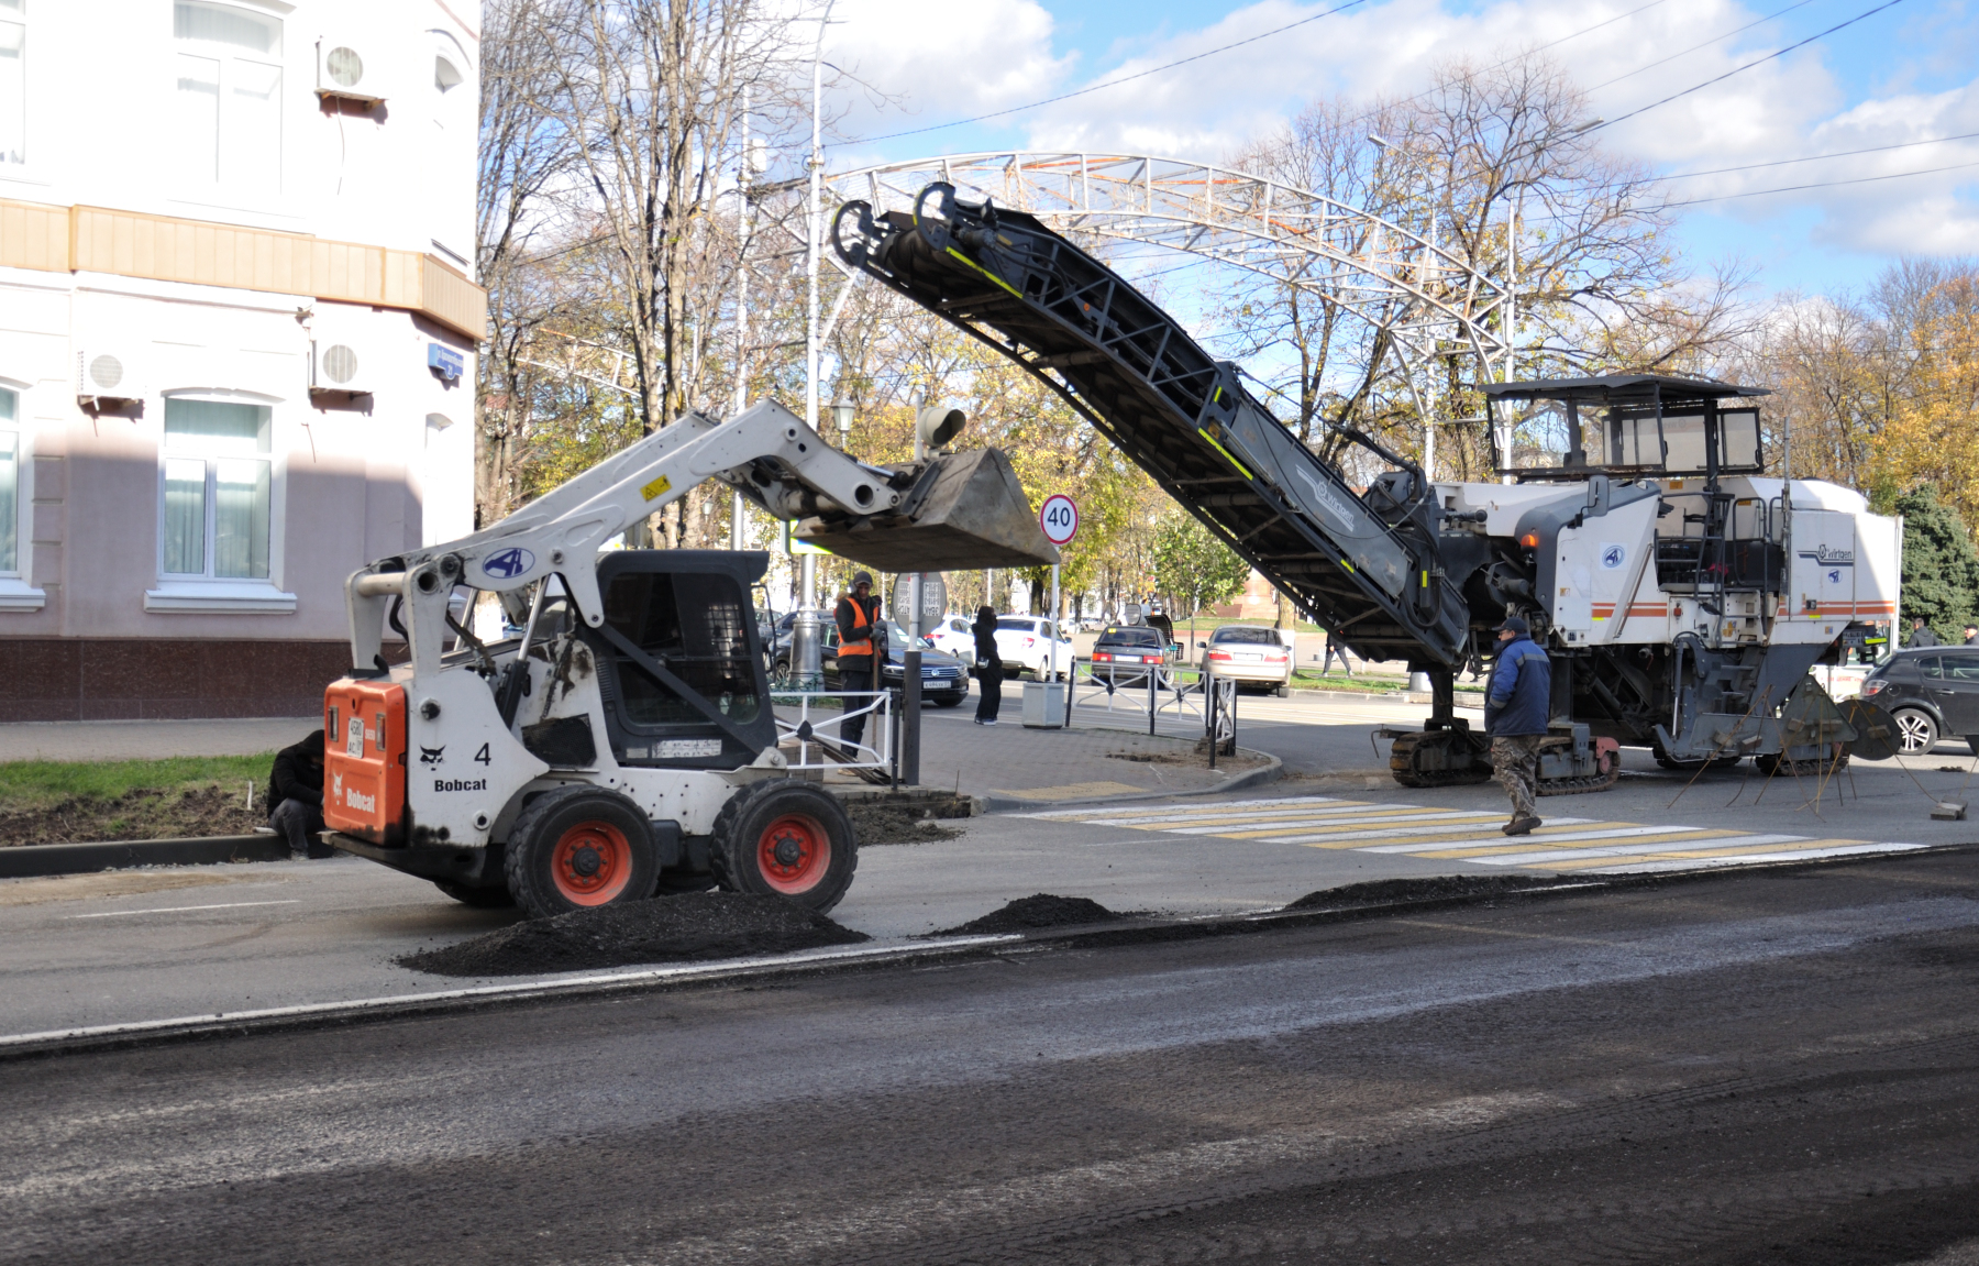
<path id="1" fill-rule="evenodd" d="M 847 264 L 1051 386 L 1358 654 L 1421 668 L 1468 658 L 1468 606 L 1443 577 L 1421 472 L 1407 505 L 1375 513 L 1235 365 L 1029 214 L 932 184 L 912 214 L 847 202 L 831 236 Z"/>

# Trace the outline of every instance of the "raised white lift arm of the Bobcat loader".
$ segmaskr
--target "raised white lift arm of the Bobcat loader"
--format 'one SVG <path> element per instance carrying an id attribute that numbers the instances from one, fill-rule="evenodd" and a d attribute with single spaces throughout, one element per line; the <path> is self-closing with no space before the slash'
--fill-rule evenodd
<path id="1" fill-rule="evenodd" d="M 1007 495 L 1015 485 L 1013 477 L 982 477 L 984 466 L 1007 475 L 1007 462 L 993 450 L 898 470 L 867 466 L 825 444 L 774 400 L 726 422 L 687 414 L 485 531 L 354 573 L 346 582 L 352 664 L 360 676 L 384 674 L 384 626 L 398 622 L 402 610 L 410 620 L 412 662 L 437 666 L 451 620 L 447 600 L 457 584 L 507 592 L 554 573 L 582 618 L 594 628 L 604 624 L 600 549 L 703 479 L 730 483 L 778 519 L 807 519 L 841 555 L 859 559 L 863 541 L 887 541 L 896 553 L 914 537 L 922 505 L 940 501 L 930 491 L 942 483 L 944 464 L 978 475 L 970 481 L 978 499 Z M 997 557 L 995 567 L 1057 561 L 1035 521 L 993 519 L 999 539 L 974 533 L 970 557 Z M 966 527 L 942 523 L 938 535 L 954 541 Z"/>

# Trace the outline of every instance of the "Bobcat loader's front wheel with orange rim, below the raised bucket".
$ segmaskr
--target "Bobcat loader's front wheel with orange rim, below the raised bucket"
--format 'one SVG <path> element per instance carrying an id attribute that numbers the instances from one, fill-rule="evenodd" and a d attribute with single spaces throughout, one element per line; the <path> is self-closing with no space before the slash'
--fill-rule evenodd
<path id="1" fill-rule="evenodd" d="M 859 868 L 845 806 L 798 779 L 752 783 L 714 818 L 714 874 L 728 892 L 776 894 L 823 913 Z"/>

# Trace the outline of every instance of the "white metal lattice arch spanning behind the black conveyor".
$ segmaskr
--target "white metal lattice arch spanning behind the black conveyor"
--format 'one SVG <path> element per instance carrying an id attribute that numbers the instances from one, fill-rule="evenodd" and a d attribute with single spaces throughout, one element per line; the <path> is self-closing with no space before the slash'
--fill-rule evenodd
<path id="1" fill-rule="evenodd" d="M 1411 228 L 1249 172 L 1154 155 L 1005 151 L 889 162 L 829 176 L 843 198 L 912 210 L 934 180 L 1059 230 L 1203 256 L 1310 291 L 1387 331 L 1407 363 L 1449 343 L 1504 363 L 1504 285 Z M 829 212 L 827 212 L 829 214 Z M 1411 374 L 1413 386 L 1413 374 Z"/>

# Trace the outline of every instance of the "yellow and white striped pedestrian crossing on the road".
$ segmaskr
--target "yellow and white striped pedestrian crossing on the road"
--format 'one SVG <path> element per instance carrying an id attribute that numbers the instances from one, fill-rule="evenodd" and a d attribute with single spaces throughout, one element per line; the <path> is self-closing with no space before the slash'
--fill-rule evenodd
<path id="1" fill-rule="evenodd" d="M 1023 816 L 1253 844 L 1407 854 L 1425 862 L 1585 874 L 1704 870 L 1924 848 L 1922 844 L 1749 834 L 1712 826 L 1645 826 L 1597 818 L 1548 818 L 1546 826 L 1530 836 L 1506 836 L 1498 830 L 1504 822 L 1504 812 L 1498 810 L 1451 810 L 1433 804 L 1338 800 L 1332 796 L 1274 796 L 1144 808 L 1055 808 Z"/>

